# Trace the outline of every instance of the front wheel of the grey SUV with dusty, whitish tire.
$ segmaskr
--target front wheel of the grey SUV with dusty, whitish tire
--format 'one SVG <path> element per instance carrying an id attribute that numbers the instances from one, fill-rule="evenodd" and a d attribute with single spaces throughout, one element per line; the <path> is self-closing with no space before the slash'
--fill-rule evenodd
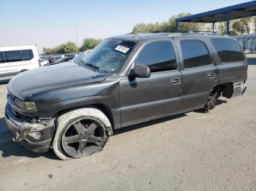
<path id="1" fill-rule="evenodd" d="M 53 151 L 61 160 L 101 151 L 108 142 L 110 121 L 94 107 L 75 109 L 57 119 Z"/>

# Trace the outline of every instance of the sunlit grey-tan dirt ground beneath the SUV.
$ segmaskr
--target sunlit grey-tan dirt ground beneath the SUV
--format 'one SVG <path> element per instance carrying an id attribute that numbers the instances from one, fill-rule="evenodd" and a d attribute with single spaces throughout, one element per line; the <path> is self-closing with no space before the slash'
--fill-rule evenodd
<path id="1" fill-rule="evenodd" d="M 11 141 L 0 85 L 0 190 L 256 190 L 256 65 L 246 94 L 119 130 L 103 152 L 61 161 Z"/>

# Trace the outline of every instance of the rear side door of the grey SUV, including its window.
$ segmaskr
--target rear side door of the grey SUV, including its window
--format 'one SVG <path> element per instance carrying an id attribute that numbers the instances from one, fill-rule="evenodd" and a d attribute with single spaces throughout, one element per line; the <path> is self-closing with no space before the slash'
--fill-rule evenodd
<path id="1" fill-rule="evenodd" d="M 201 39 L 179 40 L 182 69 L 182 109 L 199 109 L 219 82 L 219 72 L 209 47 Z"/>

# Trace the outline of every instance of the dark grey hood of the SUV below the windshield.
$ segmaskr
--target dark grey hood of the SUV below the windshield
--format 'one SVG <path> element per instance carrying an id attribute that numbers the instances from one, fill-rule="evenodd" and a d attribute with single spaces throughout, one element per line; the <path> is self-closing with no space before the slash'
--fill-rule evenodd
<path id="1" fill-rule="evenodd" d="M 8 90 L 15 97 L 24 100 L 35 93 L 47 90 L 102 82 L 105 77 L 105 74 L 99 74 L 73 62 L 59 63 L 23 71 L 11 79 Z"/>

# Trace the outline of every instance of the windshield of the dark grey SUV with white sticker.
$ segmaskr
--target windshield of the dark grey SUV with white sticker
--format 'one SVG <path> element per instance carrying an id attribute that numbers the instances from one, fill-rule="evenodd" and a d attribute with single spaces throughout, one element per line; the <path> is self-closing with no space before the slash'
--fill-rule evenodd
<path id="1" fill-rule="evenodd" d="M 99 72 L 117 74 L 130 53 L 135 47 L 135 42 L 121 39 L 106 39 L 101 42 L 89 55 L 82 58 L 82 66 L 90 66 Z"/>

